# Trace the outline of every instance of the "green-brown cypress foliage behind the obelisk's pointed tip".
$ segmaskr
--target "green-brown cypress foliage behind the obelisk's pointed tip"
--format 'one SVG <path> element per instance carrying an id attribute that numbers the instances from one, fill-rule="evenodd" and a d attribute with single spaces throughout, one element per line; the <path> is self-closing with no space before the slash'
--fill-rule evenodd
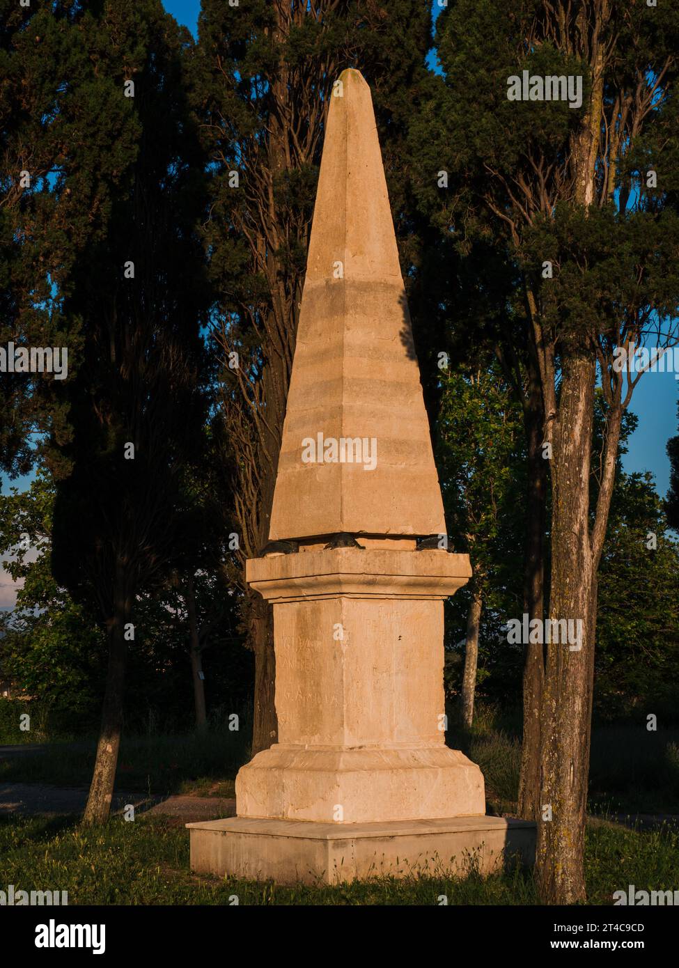
<path id="1" fill-rule="evenodd" d="M 240 327 L 234 342 L 252 349 L 256 334 L 247 313 L 257 321 L 275 298 L 274 287 L 288 296 L 303 274 L 325 110 L 346 67 L 361 70 L 371 84 L 397 226 L 407 220 L 401 143 L 427 82 L 431 15 L 417 0 L 392 2 L 388 13 L 356 0 L 321 0 L 313 9 L 295 2 L 288 12 L 266 0 L 237 8 L 205 0 L 199 34 L 191 78 L 211 162 L 205 244 L 220 309 L 240 317 L 231 320 L 231 327 Z M 284 117 L 282 91 L 288 97 Z M 230 186 L 231 171 L 244 182 L 237 189 Z M 267 184 L 264 221 L 276 230 L 268 240 L 272 251 L 260 258 L 251 233 L 264 229 L 258 206 Z M 404 240 L 406 233 L 412 227 L 404 224 Z"/>

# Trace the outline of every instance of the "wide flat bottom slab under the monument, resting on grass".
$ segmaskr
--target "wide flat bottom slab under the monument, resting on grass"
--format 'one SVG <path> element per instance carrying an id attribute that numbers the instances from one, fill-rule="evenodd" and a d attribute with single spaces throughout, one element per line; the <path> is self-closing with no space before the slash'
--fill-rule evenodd
<path id="1" fill-rule="evenodd" d="M 535 859 L 535 824 L 504 817 L 381 824 L 231 817 L 186 826 L 192 870 L 277 884 L 490 873 L 509 855 Z"/>

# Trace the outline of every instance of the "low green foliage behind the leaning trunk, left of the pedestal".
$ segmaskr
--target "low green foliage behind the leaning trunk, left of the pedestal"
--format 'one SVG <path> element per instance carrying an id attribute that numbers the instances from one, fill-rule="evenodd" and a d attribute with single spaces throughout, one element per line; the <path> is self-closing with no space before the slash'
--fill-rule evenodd
<path id="1" fill-rule="evenodd" d="M 28 491 L 0 496 L 0 557 L 13 559 L 6 567 L 23 583 L 15 610 L 4 619 L 0 671 L 21 694 L 34 697 L 33 702 L 20 704 L 31 712 L 31 735 L 14 733 L 13 741 L 36 741 L 38 732 L 43 740 L 89 731 L 99 717 L 104 690 L 106 635 L 95 617 L 51 575 L 54 499 L 54 483 L 46 471 L 38 474 Z M 199 508 L 197 500 L 193 522 Z M 204 530 L 200 533 L 204 537 Z M 251 656 L 242 649 L 236 629 L 234 596 L 218 580 L 214 560 L 196 547 L 200 533 L 192 532 L 194 543 L 188 553 L 202 555 L 203 563 L 211 565 L 210 571 L 203 570 L 196 578 L 199 620 L 209 626 L 207 642 L 202 644 L 211 646 L 203 657 L 208 710 L 213 718 L 237 713 L 247 736 Z M 196 566 L 195 558 L 191 566 Z M 154 595 L 140 595 L 137 627 L 128 659 L 128 726 L 145 729 L 152 721 L 156 727 L 188 727 L 193 721 L 193 697 L 181 590 L 169 585 Z"/>

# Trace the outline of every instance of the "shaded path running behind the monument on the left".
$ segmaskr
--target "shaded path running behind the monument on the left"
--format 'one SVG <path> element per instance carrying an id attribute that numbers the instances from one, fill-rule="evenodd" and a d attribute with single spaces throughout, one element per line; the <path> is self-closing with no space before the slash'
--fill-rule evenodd
<path id="1" fill-rule="evenodd" d="M 0 816 L 58 816 L 82 813 L 87 790 L 53 787 L 42 783 L 0 783 Z M 113 795 L 113 811 L 133 803 L 138 812 L 164 814 L 182 820 L 212 820 L 232 817 L 235 800 L 221 797 L 148 797 L 139 793 Z"/>

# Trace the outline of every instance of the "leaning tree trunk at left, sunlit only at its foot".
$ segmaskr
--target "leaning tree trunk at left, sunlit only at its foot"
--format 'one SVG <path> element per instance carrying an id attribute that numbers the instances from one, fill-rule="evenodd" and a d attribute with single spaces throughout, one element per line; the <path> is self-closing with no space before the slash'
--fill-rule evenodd
<path id="1" fill-rule="evenodd" d="M 132 599 L 126 588 L 124 565 L 120 561 L 116 564 L 114 582 L 113 616 L 108 624 L 108 671 L 102 726 L 89 796 L 82 816 L 82 823 L 88 825 L 105 824 L 110 816 L 123 728 L 127 652 L 125 625 L 132 614 Z"/>

